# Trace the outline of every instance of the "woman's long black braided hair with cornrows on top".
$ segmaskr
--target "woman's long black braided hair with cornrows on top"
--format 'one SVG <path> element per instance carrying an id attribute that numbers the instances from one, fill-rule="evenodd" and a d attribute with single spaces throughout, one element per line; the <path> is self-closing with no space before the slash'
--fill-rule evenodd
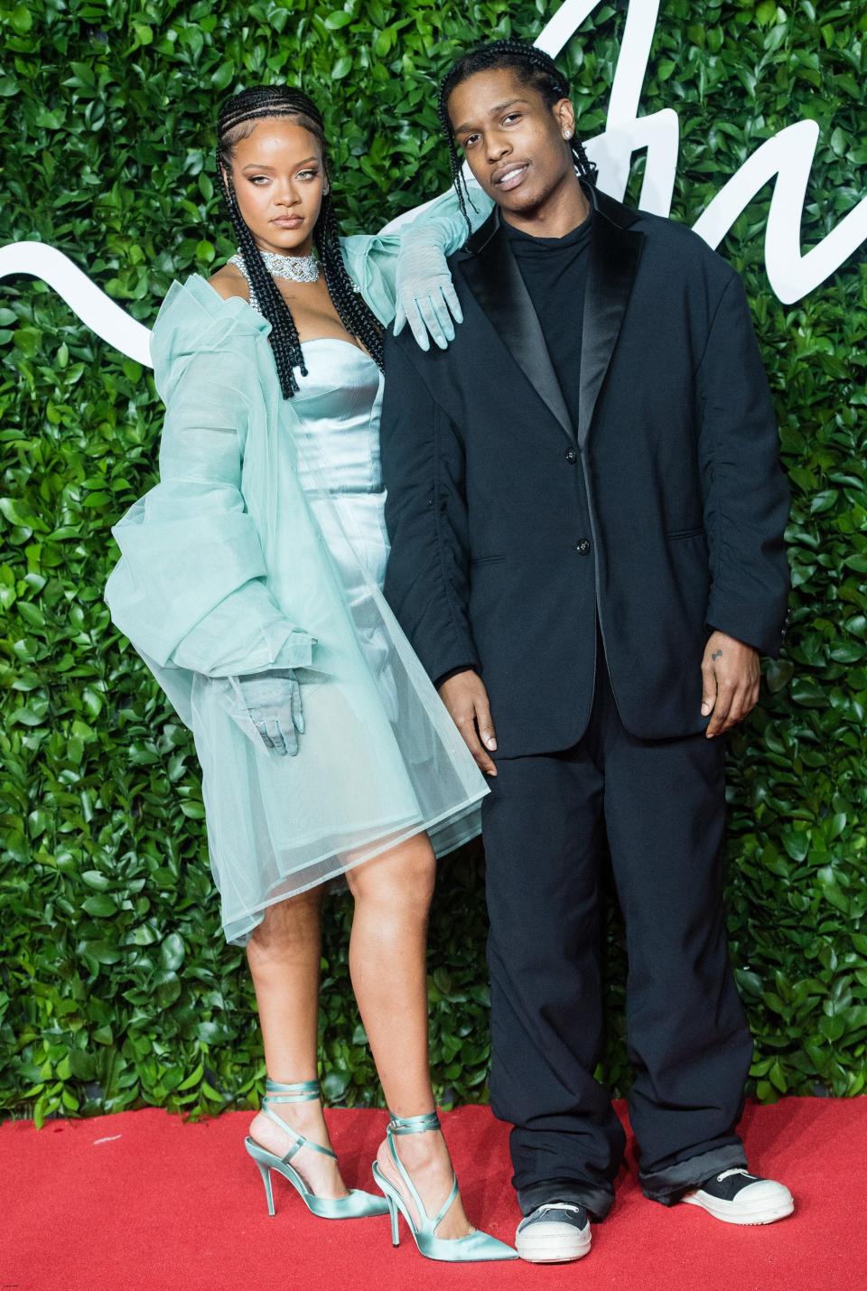
<path id="1" fill-rule="evenodd" d="M 303 125 L 319 139 L 323 148 L 323 165 L 328 177 L 325 130 L 319 108 L 301 90 L 283 85 L 267 85 L 259 89 L 241 90 L 240 94 L 226 99 L 221 107 L 217 121 L 217 179 L 228 207 L 250 287 L 262 314 L 271 324 L 271 347 L 283 396 L 290 399 L 299 389 L 294 369 L 299 368 L 301 374 L 307 376 L 298 329 L 289 306 L 264 266 L 253 234 L 244 223 L 232 181 L 235 145 L 252 133 L 255 123 L 272 116 L 294 116 L 299 125 Z M 332 297 L 343 327 L 350 336 L 355 336 L 363 342 L 370 356 L 382 368 L 382 325 L 346 271 L 330 192 L 323 194 L 319 219 L 314 227 L 314 244 L 325 275 L 328 294 Z"/>

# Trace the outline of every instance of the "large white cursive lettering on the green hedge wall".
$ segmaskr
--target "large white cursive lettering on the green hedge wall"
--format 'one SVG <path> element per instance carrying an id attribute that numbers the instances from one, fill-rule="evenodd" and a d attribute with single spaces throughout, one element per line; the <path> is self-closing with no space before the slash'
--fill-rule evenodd
<path id="1" fill-rule="evenodd" d="M 572 39 L 600 0 L 565 0 L 535 44 L 552 57 Z M 587 139 L 587 152 L 599 167 L 599 186 L 623 198 L 632 155 L 646 148 L 639 207 L 667 216 L 677 173 L 680 121 L 662 108 L 639 116 L 659 0 L 632 0 L 614 71 L 605 130 Z M 813 120 L 787 125 L 756 148 L 722 186 L 694 223 L 711 247 L 719 247 L 755 195 L 774 179 L 765 231 L 765 267 L 772 290 L 792 305 L 814 290 L 867 241 L 867 198 L 863 198 L 815 247 L 801 254 L 801 217 L 821 129 Z M 424 203 L 427 205 L 427 203 Z M 419 210 L 423 208 L 415 208 Z M 386 225 L 399 227 L 415 214 L 406 212 Z M 150 332 L 102 292 L 67 256 L 44 243 L 19 241 L 0 248 L 0 278 L 30 274 L 41 278 L 66 301 L 81 321 L 121 354 L 150 367 Z"/>

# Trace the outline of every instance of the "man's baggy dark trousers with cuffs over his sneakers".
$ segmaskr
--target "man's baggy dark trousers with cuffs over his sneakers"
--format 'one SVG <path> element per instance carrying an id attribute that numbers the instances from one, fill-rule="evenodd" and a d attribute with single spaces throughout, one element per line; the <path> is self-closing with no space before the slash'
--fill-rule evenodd
<path id="1" fill-rule="evenodd" d="M 492 1103 L 513 1124 L 524 1214 L 581 1202 L 603 1219 L 624 1136 L 593 1079 L 603 1047 L 605 837 L 626 919 L 630 1118 L 645 1195 L 746 1164 L 734 1127 L 752 1041 L 722 915 L 722 741 L 636 740 L 601 662 L 587 732 L 552 755 L 501 759 L 484 804 Z"/>

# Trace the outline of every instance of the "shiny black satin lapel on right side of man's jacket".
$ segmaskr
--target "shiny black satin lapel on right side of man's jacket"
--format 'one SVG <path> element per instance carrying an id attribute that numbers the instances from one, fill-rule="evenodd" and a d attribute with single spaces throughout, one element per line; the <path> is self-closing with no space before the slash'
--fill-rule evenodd
<path id="1" fill-rule="evenodd" d="M 578 447 L 587 443 L 608 365 L 614 354 L 626 306 L 639 270 L 644 234 L 622 229 L 604 213 L 601 196 L 593 214 L 590 266 L 584 290 L 584 321 L 581 337 L 581 392 Z M 610 204 L 614 208 L 614 204 Z M 618 210 L 622 210 L 619 205 Z"/>

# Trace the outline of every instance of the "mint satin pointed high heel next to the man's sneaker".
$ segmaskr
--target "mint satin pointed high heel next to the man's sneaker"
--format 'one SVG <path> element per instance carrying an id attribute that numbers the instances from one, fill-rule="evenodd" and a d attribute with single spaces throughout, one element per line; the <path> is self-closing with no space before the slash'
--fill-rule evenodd
<path id="1" fill-rule="evenodd" d="M 404 1216 L 409 1225 L 409 1232 L 412 1233 L 415 1246 L 421 1255 L 426 1255 L 428 1260 L 444 1260 L 449 1264 L 464 1264 L 476 1260 L 516 1260 L 517 1251 L 513 1251 L 511 1246 L 506 1246 L 504 1242 L 498 1241 L 495 1237 L 490 1237 L 489 1233 L 470 1233 L 467 1237 L 455 1238 L 441 1238 L 436 1235 L 439 1225 L 443 1223 L 449 1212 L 454 1198 L 458 1195 L 458 1180 L 453 1174 L 452 1190 L 445 1198 L 444 1203 L 440 1206 L 439 1211 L 430 1217 L 424 1208 L 424 1203 L 418 1194 L 413 1180 L 409 1177 L 409 1172 L 404 1166 L 403 1161 L 397 1155 L 397 1149 L 395 1146 L 395 1136 L 401 1133 L 424 1133 L 428 1130 L 439 1130 L 440 1118 L 436 1112 L 428 1112 L 422 1117 L 395 1117 L 392 1115 L 388 1128 L 386 1130 L 386 1139 L 388 1141 L 388 1149 L 391 1152 L 391 1159 L 394 1161 L 400 1177 L 406 1185 L 406 1192 L 415 1203 L 418 1211 L 418 1224 L 413 1220 L 404 1198 L 400 1195 L 394 1184 L 391 1184 L 379 1166 L 374 1161 L 373 1163 L 373 1177 L 384 1193 L 386 1201 L 388 1202 L 388 1214 L 391 1215 L 391 1242 L 392 1246 L 400 1243 L 397 1211 Z"/>

